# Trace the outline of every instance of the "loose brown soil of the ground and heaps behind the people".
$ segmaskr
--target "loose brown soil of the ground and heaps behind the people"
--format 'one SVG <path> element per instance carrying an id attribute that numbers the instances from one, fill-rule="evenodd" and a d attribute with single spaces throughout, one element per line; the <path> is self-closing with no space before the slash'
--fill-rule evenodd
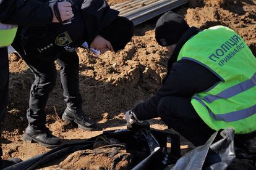
<path id="1" fill-rule="evenodd" d="M 108 2 L 113 5 L 122 1 L 125 0 Z M 190 26 L 202 29 L 213 25 L 229 26 L 245 39 L 256 55 L 255 0 L 191 0 L 176 12 L 183 15 Z M 169 54 L 156 43 L 154 26 L 153 22 L 136 26 L 132 41 L 116 54 L 106 52 L 95 57 L 79 49 L 83 110 L 98 121 L 103 130 L 125 128 L 124 111 L 151 97 L 166 74 Z M 26 110 L 33 74 L 19 57 L 12 54 L 9 60 L 10 102 L 2 135 L 3 157 L 26 160 L 49 149 L 38 144 L 27 144 L 22 140 L 27 126 Z M 66 106 L 58 84 L 59 77 L 46 107 L 47 126 L 53 134 L 66 139 L 66 142 L 101 134 L 102 131 L 82 131 L 59 119 L 58 115 Z M 153 119 L 150 123 L 153 128 L 167 129 L 160 119 Z M 189 142 L 184 139 L 182 145 L 182 148 L 190 147 Z"/>

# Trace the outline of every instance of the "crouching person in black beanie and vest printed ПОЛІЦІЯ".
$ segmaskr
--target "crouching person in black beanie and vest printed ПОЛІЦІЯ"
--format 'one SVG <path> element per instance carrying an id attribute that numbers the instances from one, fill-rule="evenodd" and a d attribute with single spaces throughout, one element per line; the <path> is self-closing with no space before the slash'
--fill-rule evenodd
<path id="1" fill-rule="evenodd" d="M 255 137 L 256 59 L 241 36 L 226 26 L 190 28 L 169 11 L 155 38 L 172 53 L 168 72 L 151 99 L 126 112 L 127 126 L 160 117 L 195 146 L 227 127 L 240 139 Z"/>

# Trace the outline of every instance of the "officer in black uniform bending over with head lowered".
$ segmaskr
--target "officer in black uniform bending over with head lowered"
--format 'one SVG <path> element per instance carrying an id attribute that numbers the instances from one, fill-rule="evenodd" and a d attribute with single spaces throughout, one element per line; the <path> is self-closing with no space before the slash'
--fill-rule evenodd
<path id="1" fill-rule="evenodd" d="M 41 0 L 46 2 L 45 0 Z M 47 26 L 25 26 L 20 30 L 22 47 L 14 46 L 35 75 L 30 91 L 27 111 L 28 127 L 23 134 L 27 142 L 38 142 L 46 147 L 56 147 L 61 140 L 45 126 L 45 106 L 56 83 L 57 60 L 61 87 L 67 104 L 62 114 L 64 121 L 76 123 L 81 129 L 95 130 L 97 124 L 82 110 L 79 93 L 79 57 L 75 51 L 83 42 L 105 51 L 119 51 L 133 36 L 134 25 L 117 10 L 110 9 L 106 1 L 70 1 L 74 17 L 72 23 Z M 17 43 L 17 44 L 19 44 Z M 22 52 L 24 51 L 24 52 Z"/>

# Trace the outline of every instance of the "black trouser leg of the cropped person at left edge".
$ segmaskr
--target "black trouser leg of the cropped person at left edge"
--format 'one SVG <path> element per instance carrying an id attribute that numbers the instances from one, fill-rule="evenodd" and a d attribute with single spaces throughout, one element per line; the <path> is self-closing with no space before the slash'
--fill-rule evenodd
<path id="1" fill-rule="evenodd" d="M 2 133 L 2 124 L 7 112 L 8 94 L 9 94 L 9 61 L 7 48 L 0 48 L 0 140 Z M 1 141 L 0 141 L 1 145 Z M 2 148 L 0 147 L 0 160 Z"/>

